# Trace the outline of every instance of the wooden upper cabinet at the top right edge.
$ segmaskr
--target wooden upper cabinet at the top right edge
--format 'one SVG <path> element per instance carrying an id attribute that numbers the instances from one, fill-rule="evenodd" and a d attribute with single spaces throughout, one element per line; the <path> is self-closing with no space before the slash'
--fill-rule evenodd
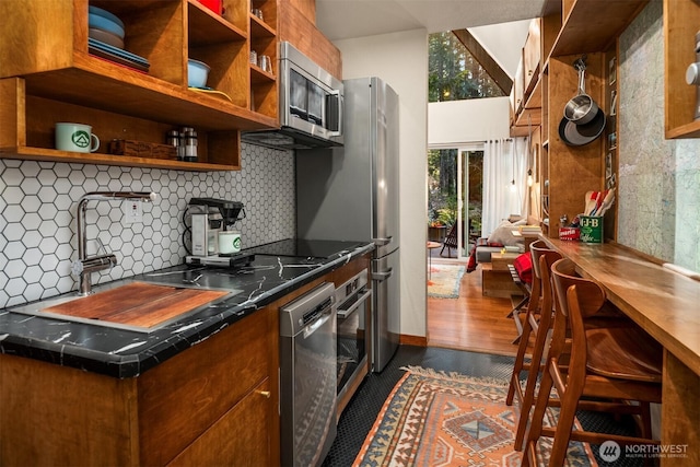
<path id="1" fill-rule="evenodd" d="M 698 2 L 664 0 L 666 138 L 700 138 L 700 119 L 695 118 L 698 86 L 686 83 L 686 70 L 697 61 L 698 31 Z"/>

